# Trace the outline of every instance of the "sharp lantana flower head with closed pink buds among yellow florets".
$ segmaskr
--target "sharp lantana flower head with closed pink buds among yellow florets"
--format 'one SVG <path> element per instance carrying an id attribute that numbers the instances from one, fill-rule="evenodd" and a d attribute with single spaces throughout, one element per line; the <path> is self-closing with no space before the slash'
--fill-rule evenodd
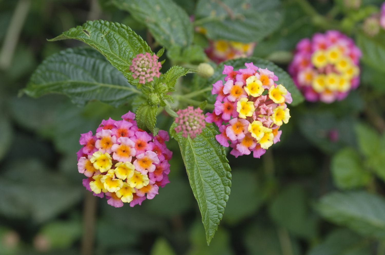
<path id="1" fill-rule="evenodd" d="M 246 68 L 234 71 L 224 65 L 222 80 L 213 84 L 216 94 L 213 113 L 206 114 L 208 123 L 215 123 L 220 134 L 216 140 L 233 148 L 235 157 L 249 155 L 259 158 L 271 145 L 280 141 L 283 123 L 288 123 L 291 94 L 276 84 L 278 77 L 267 68 L 245 63 Z"/>

